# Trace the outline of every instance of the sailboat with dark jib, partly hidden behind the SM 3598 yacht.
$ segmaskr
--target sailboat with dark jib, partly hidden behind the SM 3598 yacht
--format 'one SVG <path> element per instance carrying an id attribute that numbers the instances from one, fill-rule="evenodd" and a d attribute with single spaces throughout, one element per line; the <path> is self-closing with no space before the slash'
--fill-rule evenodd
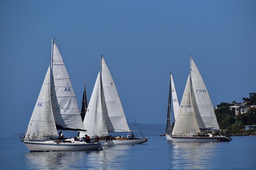
<path id="1" fill-rule="evenodd" d="M 173 107 L 173 112 L 171 111 L 171 103 Z M 172 140 L 172 117 L 173 122 L 175 122 L 175 118 L 178 115 L 179 111 L 179 101 L 176 94 L 172 72 L 170 72 L 170 84 L 169 84 L 169 97 L 168 97 L 168 109 L 167 109 L 167 119 L 166 119 L 166 129 L 165 129 L 165 137 L 167 140 Z M 173 114 L 172 114 L 173 113 Z"/>

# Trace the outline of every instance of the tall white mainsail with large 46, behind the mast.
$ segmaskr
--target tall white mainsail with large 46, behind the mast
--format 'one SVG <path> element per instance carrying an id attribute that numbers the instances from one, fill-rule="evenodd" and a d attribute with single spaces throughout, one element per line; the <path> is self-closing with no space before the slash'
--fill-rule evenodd
<path id="1" fill-rule="evenodd" d="M 55 43 L 52 61 L 52 111 L 57 128 L 84 130 L 76 96 Z"/>

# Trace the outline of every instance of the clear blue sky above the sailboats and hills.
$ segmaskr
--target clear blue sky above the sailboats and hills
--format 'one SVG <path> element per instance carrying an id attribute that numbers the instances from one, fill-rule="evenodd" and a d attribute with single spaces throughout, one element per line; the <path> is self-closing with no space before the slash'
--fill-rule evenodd
<path id="1" fill-rule="evenodd" d="M 126 102 L 137 122 L 166 122 L 169 71 L 180 102 L 190 54 L 213 105 L 256 92 L 256 1 L 0 1 L 0 19 L 1 136 L 25 132 L 53 37 L 79 106 L 104 54 L 130 122 Z"/>

